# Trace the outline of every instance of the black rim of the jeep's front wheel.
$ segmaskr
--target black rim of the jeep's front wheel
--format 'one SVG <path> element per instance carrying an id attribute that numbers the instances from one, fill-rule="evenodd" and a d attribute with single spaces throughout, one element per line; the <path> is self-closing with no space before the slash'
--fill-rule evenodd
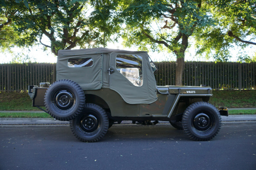
<path id="1" fill-rule="evenodd" d="M 192 119 L 192 128 L 198 133 L 209 133 L 215 127 L 215 118 L 207 111 L 200 111 Z"/>

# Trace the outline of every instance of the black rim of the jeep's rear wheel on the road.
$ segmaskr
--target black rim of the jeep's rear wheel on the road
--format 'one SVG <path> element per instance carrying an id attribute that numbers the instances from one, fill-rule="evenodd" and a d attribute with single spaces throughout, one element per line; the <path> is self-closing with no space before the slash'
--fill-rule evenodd
<path id="1" fill-rule="evenodd" d="M 79 115 L 76 118 L 76 128 L 86 136 L 93 136 L 100 130 L 100 118 L 93 112 Z"/>

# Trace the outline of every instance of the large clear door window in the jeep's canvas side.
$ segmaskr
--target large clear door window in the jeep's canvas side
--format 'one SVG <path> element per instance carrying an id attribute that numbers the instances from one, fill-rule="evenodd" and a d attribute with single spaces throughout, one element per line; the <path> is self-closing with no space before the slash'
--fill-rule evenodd
<path id="1" fill-rule="evenodd" d="M 143 85 L 142 57 L 140 55 L 116 55 L 116 69 L 133 85 Z"/>

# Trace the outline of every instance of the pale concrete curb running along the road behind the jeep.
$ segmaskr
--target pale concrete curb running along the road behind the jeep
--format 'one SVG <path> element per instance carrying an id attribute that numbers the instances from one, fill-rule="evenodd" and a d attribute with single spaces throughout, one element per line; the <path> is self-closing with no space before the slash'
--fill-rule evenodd
<path id="1" fill-rule="evenodd" d="M 222 122 L 256 121 L 256 115 L 221 116 Z M 159 121 L 160 123 L 168 123 Z M 132 121 L 122 121 L 122 125 L 130 125 Z M 53 118 L 0 118 L 0 125 L 69 125 L 69 121 L 59 121 Z"/>

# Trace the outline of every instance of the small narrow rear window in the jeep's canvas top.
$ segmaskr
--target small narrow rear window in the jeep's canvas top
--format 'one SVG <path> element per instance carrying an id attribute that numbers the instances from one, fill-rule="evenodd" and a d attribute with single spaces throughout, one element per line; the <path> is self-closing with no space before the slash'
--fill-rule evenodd
<path id="1" fill-rule="evenodd" d="M 80 59 L 71 58 L 71 59 L 68 59 L 67 66 L 76 67 L 76 68 L 91 67 L 93 66 L 93 59 L 92 58 L 80 58 Z"/>

